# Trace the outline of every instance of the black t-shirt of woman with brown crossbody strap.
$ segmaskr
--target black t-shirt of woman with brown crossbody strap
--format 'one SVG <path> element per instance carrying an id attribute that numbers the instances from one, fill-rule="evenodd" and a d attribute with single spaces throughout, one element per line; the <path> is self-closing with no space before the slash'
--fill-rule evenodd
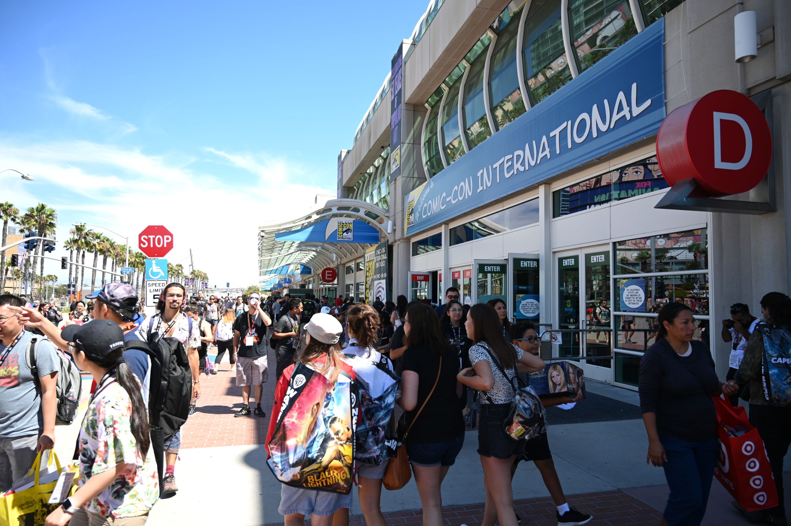
<path id="1" fill-rule="evenodd" d="M 407 411 L 407 426 L 414 419 L 418 409 L 429 396 L 440 359 L 430 353 L 427 348 L 411 347 L 403 353 L 403 370 L 413 370 L 420 378 L 418 382 L 418 404 L 414 410 Z M 426 403 L 426 407 L 418 416 L 407 441 L 413 444 L 429 444 L 452 440 L 464 433 L 464 417 L 461 415 L 461 402 L 456 396 L 456 374 L 459 373 L 459 360 L 455 351 L 445 349 L 442 357 L 437 388 Z"/>

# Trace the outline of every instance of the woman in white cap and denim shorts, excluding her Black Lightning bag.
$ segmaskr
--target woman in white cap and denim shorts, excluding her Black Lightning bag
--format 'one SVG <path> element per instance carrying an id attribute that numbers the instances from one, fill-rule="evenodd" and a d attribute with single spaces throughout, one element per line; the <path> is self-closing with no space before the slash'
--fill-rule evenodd
<path id="1" fill-rule="evenodd" d="M 354 378 L 354 370 L 341 359 L 338 344 L 343 328 L 335 317 L 330 314 L 313 314 L 305 325 L 307 338 L 305 349 L 297 356 L 297 363 L 303 363 L 320 374 L 323 374 L 331 384 L 338 380 L 341 370 Z M 269 430 L 267 430 L 267 453 L 269 444 L 274 436 L 278 424 L 278 415 L 286 398 L 286 391 L 291 381 L 296 363 L 283 370 L 274 389 L 274 406 L 272 407 Z M 306 433 L 306 435 L 308 435 Z M 351 508 L 351 493 L 338 494 L 327 491 L 309 490 L 306 488 L 291 487 L 282 484 L 280 490 L 280 505 L 278 513 L 286 518 L 286 526 L 305 524 L 305 515 L 311 516 L 312 526 L 330 526 L 332 515 L 341 508 Z"/>

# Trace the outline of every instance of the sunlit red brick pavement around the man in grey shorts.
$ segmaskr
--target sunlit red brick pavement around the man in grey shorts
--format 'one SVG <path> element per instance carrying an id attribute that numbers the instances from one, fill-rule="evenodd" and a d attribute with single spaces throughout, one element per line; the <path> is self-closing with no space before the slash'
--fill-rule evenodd
<path id="1" fill-rule="evenodd" d="M 214 360 L 217 349 L 210 348 L 210 359 Z M 206 448 L 219 445 L 263 444 L 267 438 L 267 426 L 274 400 L 274 351 L 268 353 L 269 381 L 263 384 L 261 408 L 267 416 L 255 415 L 234 418 L 233 414 L 242 407 L 242 388 L 236 385 L 236 366 L 223 357 L 218 374 L 201 375 L 201 396 L 198 408 L 181 430 L 181 447 Z M 255 399 L 250 395 L 251 410 Z"/>

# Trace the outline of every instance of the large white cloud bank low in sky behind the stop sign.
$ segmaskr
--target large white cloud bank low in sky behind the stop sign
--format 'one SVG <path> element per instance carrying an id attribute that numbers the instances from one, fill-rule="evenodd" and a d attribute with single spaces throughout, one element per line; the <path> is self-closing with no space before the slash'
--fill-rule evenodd
<path id="1" fill-rule="evenodd" d="M 123 235 L 137 248 L 137 235 L 149 224 L 168 227 L 175 247 L 168 260 L 207 272 L 211 285 L 258 283 L 257 232 L 261 224 L 287 219 L 312 209 L 316 193 L 327 188 L 303 184 L 305 170 L 263 154 L 233 154 L 208 148 L 234 166 L 258 174 L 254 186 L 236 183 L 233 171 L 193 171 L 189 163 L 168 156 L 150 156 L 139 148 L 89 141 L 19 144 L 0 139 L 0 158 L 8 166 L 24 166 L 32 182 L 0 175 L 4 200 L 26 209 L 41 201 L 59 213 L 58 239 L 70 224 L 100 224 Z M 283 175 L 291 175 L 285 177 Z M 3 192 L 5 193 L 5 191 Z M 11 198 L 9 198 L 11 197 Z M 108 237 L 123 242 L 108 232 Z M 56 257 L 68 255 L 59 249 Z M 91 261 L 93 262 L 93 261 Z M 55 261 L 47 273 L 67 276 Z M 50 268 L 51 267 L 51 268 Z M 56 269 L 57 267 L 57 269 Z"/>

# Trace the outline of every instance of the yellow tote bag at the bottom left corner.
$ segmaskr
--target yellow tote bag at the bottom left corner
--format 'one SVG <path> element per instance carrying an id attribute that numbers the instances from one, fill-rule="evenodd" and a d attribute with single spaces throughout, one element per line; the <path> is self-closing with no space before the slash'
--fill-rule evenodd
<path id="1" fill-rule="evenodd" d="M 9 526 L 44 526 L 44 520 L 47 520 L 47 515 L 58 508 L 59 504 L 47 504 L 55 490 L 57 480 L 47 483 L 39 483 L 39 475 L 41 471 L 41 453 L 36 456 L 32 468 L 28 472 L 27 478 L 31 475 L 34 477 L 33 486 L 12 494 L 0 497 L 0 524 L 9 524 Z M 55 459 L 55 466 L 58 468 L 58 473 L 62 472 L 58 455 L 55 450 L 50 449 L 49 460 L 47 465 L 52 464 L 52 459 Z M 77 490 L 77 478 L 74 478 L 69 495 L 74 494 Z"/>

